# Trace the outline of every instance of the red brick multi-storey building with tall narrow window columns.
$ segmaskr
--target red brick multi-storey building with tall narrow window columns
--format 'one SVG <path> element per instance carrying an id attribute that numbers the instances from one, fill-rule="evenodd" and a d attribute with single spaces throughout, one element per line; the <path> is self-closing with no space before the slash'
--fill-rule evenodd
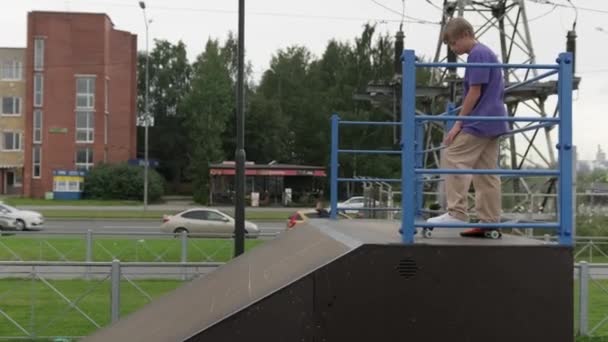
<path id="1" fill-rule="evenodd" d="M 42 197 L 53 171 L 135 158 L 137 37 L 105 14 L 30 12 L 27 25 L 23 195 Z"/>

